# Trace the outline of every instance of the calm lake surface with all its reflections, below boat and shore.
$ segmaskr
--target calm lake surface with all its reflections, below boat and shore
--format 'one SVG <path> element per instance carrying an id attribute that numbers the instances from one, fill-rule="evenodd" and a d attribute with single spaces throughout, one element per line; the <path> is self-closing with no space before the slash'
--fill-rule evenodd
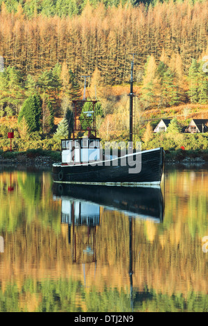
<path id="1" fill-rule="evenodd" d="M 208 169 L 164 179 L 95 191 L 1 168 L 0 311 L 208 311 Z"/>

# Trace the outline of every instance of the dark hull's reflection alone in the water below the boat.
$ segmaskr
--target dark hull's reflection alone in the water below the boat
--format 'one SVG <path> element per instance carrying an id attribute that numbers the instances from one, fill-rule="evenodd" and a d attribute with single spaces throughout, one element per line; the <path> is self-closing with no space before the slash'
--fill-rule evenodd
<path id="1" fill-rule="evenodd" d="M 69 200 L 87 200 L 104 207 L 125 212 L 128 216 L 163 221 L 162 191 L 153 187 L 108 187 L 96 185 L 53 184 L 53 195 Z"/>

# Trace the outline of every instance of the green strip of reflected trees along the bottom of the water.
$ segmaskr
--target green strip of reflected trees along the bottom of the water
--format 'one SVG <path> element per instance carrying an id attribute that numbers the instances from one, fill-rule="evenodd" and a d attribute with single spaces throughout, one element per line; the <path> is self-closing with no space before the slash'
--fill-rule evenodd
<path id="1" fill-rule="evenodd" d="M 78 300 L 79 298 L 79 300 Z M 157 293 L 145 287 L 134 295 L 135 311 L 205 312 L 208 296 L 204 293 L 190 291 L 186 298 L 181 293 L 168 295 Z M 124 287 L 108 289 L 101 292 L 92 287 L 87 291 L 82 284 L 73 279 L 25 280 L 19 287 L 7 284 L 0 289 L 0 311 L 37 311 L 37 312 L 130 312 L 130 298 Z"/>

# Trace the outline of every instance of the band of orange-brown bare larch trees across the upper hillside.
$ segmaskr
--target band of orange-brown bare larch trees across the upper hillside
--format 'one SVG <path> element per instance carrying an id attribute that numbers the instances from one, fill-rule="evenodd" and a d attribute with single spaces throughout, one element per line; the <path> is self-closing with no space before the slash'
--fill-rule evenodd
<path id="1" fill-rule="evenodd" d="M 144 67 L 148 55 L 158 62 L 164 49 L 167 58 L 180 55 L 185 73 L 192 58 L 207 48 L 207 1 L 156 2 L 148 10 L 143 3 L 96 8 L 89 3 L 81 15 L 26 16 L 21 6 L 0 15 L 0 54 L 6 66 L 36 75 L 66 60 L 78 77 L 92 75 L 96 67 L 103 83 L 129 78 L 131 56 L 137 53 L 135 70 Z"/>

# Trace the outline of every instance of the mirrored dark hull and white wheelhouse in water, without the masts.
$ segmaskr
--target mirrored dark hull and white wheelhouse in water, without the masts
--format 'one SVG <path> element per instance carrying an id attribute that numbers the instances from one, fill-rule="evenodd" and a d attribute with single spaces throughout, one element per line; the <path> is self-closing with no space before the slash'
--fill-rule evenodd
<path id="1" fill-rule="evenodd" d="M 163 220 L 164 200 L 160 187 L 53 184 L 53 195 L 61 196 L 62 214 L 68 215 L 69 223 L 72 223 L 73 218 L 72 203 L 80 207 L 79 211 L 76 208 L 74 212 L 76 223 L 80 224 L 87 216 L 89 216 L 89 221 L 91 221 L 90 216 L 98 218 L 94 210 L 99 206 L 103 206 L 104 209 L 119 210 L 128 216 L 150 218 L 158 223 Z"/>

